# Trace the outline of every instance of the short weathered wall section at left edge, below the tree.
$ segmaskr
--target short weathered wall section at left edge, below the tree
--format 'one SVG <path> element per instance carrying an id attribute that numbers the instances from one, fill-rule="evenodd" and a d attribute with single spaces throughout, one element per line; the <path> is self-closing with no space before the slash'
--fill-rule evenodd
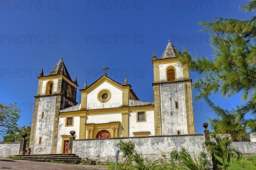
<path id="1" fill-rule="evenodd" d="M 0 157 L 19 154 L 20 143 L 0 143 Z"/>

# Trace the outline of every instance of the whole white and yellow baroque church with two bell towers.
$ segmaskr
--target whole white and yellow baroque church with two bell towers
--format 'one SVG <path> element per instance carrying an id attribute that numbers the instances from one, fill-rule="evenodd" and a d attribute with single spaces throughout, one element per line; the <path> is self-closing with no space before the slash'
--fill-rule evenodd
<path id="1" fill-rule="evenodd" d="M 184 49 L 184 52 L 185 49 Z M 76 139 L 120 138 L 195 134 L 191 79 L 186 65 L 169 43 L 160 59 L 155 52 L 154 102 L 139 100 L 128 84 L 105 74 L 80 88 L 73 81 L 63 59 L 38 77 L 38 91 L 32 118 L 29 147 L 32 154 L 68 153 L 70 131 Z"/>

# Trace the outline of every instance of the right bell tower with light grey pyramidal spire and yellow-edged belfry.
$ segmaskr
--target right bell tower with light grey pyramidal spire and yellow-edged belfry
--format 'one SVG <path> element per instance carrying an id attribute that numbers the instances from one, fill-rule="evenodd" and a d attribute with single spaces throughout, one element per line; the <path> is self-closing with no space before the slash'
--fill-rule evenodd
<path id="1" fill-rule="evenodd" d="M 152 63 L 155 135 L 195 134 L 192 80 L 188 67 L 179 61 L 171 40 L 160 59 L 154 52 Z"/>

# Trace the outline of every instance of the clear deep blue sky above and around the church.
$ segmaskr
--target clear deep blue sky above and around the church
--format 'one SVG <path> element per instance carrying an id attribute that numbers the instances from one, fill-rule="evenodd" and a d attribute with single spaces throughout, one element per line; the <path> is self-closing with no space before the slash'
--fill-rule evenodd
<path id="1" fill-rule="evenodd" d="M 55 66 L 60 57 L 79 88 L 93 83 L 107 65 L 109 77 L 123 83 L 125 75 L 140 100 L 153 101 L 153 51 L 160 58 L 168 40 L 193 56 L 211 57 L 207 33 L 199 21 L 213 16 L 249 19 L 239 9 L 246 2 L 225 1 L 0 1 L 0 99 L 17 102 L 19 125 L 32 121 L 38 75 Z M 199 75 L 190 73 L 194 82 Z M 192 92 L 195 97 L 196 92 Z M 211 96 L 224 108 L 241 103 L 238 94 L 229 99 Z M 77 102 L 81 94 L 77 93 Z M 202 133 L 206 116 L 213 113 L 201 101 L 194 102 L 196 133 Z"/>

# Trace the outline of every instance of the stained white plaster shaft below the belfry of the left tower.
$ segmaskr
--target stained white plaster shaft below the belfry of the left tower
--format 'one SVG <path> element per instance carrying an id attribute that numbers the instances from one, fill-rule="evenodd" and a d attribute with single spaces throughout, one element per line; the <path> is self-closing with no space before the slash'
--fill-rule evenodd
<path id="1" fill-rule="evenodd" d="M 55 102 L 56 96 L 47 96 L 40 98 L 33 154 L 51 153 Z M 44 112 L 44 119 L 41 119 L 42 112 Z M 42 144 L 38 144 L 39 137 L 42 137 Z"/>

